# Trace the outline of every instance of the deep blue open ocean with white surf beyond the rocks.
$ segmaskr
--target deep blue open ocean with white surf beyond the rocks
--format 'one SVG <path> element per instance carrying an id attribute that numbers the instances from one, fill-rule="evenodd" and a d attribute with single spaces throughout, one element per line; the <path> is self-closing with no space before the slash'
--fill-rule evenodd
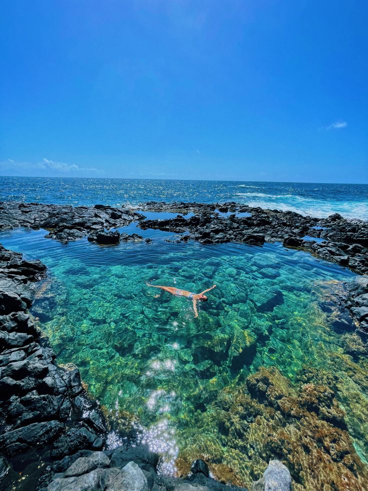
<path id="1" fill-rule="evenodd" d="M 0 199 L 77 205 L 237 201 L 249 206 L 368 220 L 368 184 L 0 177 Z"/>

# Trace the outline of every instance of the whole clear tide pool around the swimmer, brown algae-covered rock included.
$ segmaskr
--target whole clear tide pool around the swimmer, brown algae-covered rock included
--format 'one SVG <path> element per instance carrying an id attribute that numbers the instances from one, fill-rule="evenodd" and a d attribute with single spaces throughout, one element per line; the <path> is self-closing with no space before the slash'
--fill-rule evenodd
<path id="1" fill-rule="evenodd" d="M 368 361 L 337 300 L 351 272 L 277 244 L 41 236 L 1 237 L 49 268 L 33 315 L 119 436 L 147 442 L 163 471 L 183 475 L 203 458 L 216 477 L 249 486 L 275 457 L 295 489 L 364 489 Z M 145 282 L 217 288 L 194 319 L 190 301 L 155 298 Z"/>

